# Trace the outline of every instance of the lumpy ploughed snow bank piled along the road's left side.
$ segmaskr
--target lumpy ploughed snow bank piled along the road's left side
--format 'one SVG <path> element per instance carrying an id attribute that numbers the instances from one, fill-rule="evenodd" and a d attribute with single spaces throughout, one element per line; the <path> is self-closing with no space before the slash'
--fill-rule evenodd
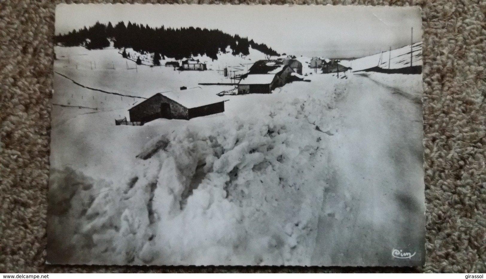
<path id="1" fill-rule="evenodd" d="M 328 101 L 297 98 L 161 132 L 118 181 L 55 171 L 52 204 L 69 208 L 50 224 L 70 228 L 50 235 L 77 248 L 57 260 L 309 264 L 328 177 L 329 136 L 319 131 L 330 126 Z"/>

